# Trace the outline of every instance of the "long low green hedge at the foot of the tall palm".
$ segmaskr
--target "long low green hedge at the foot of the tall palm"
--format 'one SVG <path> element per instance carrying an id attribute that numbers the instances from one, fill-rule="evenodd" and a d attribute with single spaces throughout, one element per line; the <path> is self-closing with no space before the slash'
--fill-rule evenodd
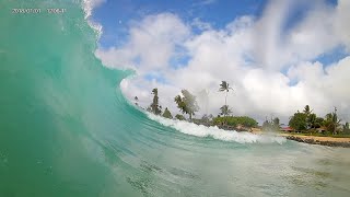
<path id="1" fill-rule="evenodd" d="M 229 116 L 229 117 L 215 117 L 212 120 L 213 125 L 222 125 L 224 123 L 228 124 L 228 126 L 236 127 L 238 125 L 242 125 L 244 127 L 257 127 L 258 123 L 248 117 L 248 116 Z"/>

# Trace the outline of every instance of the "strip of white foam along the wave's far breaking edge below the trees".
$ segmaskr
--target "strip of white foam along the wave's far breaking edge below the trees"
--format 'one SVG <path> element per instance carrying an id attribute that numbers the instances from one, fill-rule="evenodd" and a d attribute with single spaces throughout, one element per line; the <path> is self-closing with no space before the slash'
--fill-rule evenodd
<path id="1" fill-rule="evenodd" d="M 285 138 L 277 136 L 255 135 L 250 132 L 237 132 L 235 130 L 223 130 L 218 127 L 206 127 L 203 125 L 196 125 L 188 121 L 167 119 L 161 116 L 155 116 L 147 113 L 148 116 L 159 121 L 160 124 L 172 127 L 180 132 L 197 136 L 197 137 L 212 137 L 223 141 L 235 141 L 238 143 L 273 143 L 282 144 Z"/>

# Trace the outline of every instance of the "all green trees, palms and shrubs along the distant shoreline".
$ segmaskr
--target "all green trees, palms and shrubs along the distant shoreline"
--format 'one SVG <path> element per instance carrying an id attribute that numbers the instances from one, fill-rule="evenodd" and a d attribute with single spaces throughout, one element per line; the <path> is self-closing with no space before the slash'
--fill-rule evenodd
<path id="1" fill-rule="evenodd" d="M 196 101 L 196 96 L 192 95 L 187 90 L 182 90 L 182 94 L 175 96 L 174 101 L 183 114 L 188 114 L 188 120 L 198 125 L 206 126 L 221 126 L 225 129 L 238 128 L 243 126 L 247 128 L 258 127 L 258 123 L 247 116 L 230 116 L 232 109 L 226 104 L 228 93 L 233 90 L 226 81 L 222 81 L 220 84 L 220 92 L 225 92 L 225 105 L 220 107 L 220 113 L 218 117 L 213 117 L 211 114 L 205 114 L 201 118 L 192 118 L 195 113 L 199 111 L 199 106 Z M 162 106 L 159 104 L 158 89 L 152 90 L 153 101 L 147 108 L 149 112 L 155 115 L 162 115 L 170 119 L 186 120 L 184 115 L 176 114 L 173 117 L 170 109 L 166 107 L 162 114 Z M 138 105 L 139 99 L 135 96 L 135 104 Z M 222 117 L 221 117 L 222 116 Z M 306 105 L 303 112 L 298 111 L 289 120 L 289 130 L 294 130 L 296 134 L 312 135 L 312 136 L 328 136 L 328 137 L 350 137 L 349 123 L 343 125 L 340 124 L 340 119 L 337 115 L 337 108 L 331 113 L 328 113 L 325 118 L 318 117 L 308 105 Z M 280 131 L 280 119 L 278 117 L 271 118 L 271 120 L 266 120 L 262 124 L 262 130 L 266 131 Z M 291 132 L 293 134 L 293 132 Z"/>

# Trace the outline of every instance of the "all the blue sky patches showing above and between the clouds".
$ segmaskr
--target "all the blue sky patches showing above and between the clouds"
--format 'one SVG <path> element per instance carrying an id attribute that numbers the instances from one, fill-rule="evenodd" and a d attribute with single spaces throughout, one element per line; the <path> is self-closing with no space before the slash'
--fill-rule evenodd
<path id="1" fill-rule="evenodd" d="M 188 0 L 188 1 L 163 1 L 163 0 L 107 0 L 93 12 L 94 21 L 103 26 L 103 35 L 100 45 L 103 48 L 122 46 L 128 38 L 128 27 L 133 21 L 141 20 L 145 15 L 170 12 L 178 15 L 187 23 L 195 19 L 209 23 L 213 28 L 223 28 L 226 24 L 242 15 L 260 18 L 268 0 Z M 337 0 L 326 0 L 331 7 L 337 5 Z M 284 23 L 283 30 L 296 25 L 307 11 L 313 1 L 299 1 L 292 8 Z M 196 33 L 198 30 L 194 30 Z M 314 59 L 324 65 L 330 65 L 347 56 L 343 47 L 337 47 L 332 51 Z M 186 57 L 184 58 L 185 60 Z M 175 61 L 175 60 L 173 60 Z M 174 65 L 178 67 L 178 63 Z"/>

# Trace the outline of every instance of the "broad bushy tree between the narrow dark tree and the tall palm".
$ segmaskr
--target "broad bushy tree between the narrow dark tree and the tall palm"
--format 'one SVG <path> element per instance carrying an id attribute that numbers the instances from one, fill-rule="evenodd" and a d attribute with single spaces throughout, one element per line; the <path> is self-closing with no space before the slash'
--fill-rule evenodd
<path id="1" fill-rule="evenodd" d="M 196 96 L 189 93 L 187 90 L 182 90 L 182 95 L 183 96 L 175 96 L 174 101 L 177 104 L 179 111 L 183 114 L 188 114 L 189 119 L 191 120 L 195 113 L 199 111 Z"/>

